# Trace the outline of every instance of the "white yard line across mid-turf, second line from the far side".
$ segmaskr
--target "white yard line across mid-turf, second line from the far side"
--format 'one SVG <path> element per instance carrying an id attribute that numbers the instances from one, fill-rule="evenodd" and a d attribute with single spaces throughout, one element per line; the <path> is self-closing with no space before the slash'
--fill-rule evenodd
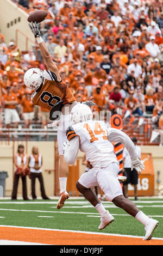
<path id="1" fill-rule="evenodd" d="M 50 213 L 54 213 L 54 214 L 92 214 L 92 215 L 99 215 L 98 213 L 94 213 L 94 212 L 73 212 L 73 211 L 41 211 L 41 210 L 19 210 L 19 209 L 0 209 L 0 211 L 27 211 L 27 212 L 50 212 Z M 112 215 L 116 215 L 116 216 L 129 216 L 131 217 L 129 214 L 112 214 Z M 163 217 L 163 215 L 148 215 L 149 217 Z M 45 217 L 45 216 L 43 216 Z M 99 217 L 99 216 L 95 216 L 95 217 Z M 0 225 L 1 227 L 1 225 Z"/>

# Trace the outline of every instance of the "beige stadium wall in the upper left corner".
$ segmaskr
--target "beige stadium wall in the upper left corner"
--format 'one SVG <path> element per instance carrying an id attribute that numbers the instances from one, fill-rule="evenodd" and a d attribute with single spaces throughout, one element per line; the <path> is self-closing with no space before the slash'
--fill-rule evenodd
<path id="1" fill-rule="evenodd" d="M 34 44 L 34 39 L 28 27 L 26 11 L 17 7 L 11 0 L 0 0 L 0 29 L 4 35 L 6 44 L 11 39 L 16 40 L 16 30 L 22 32 L 17 33 L 17 45 L 21 51 L 26 51 Z M 26 36 L 25 36 L 26 35 Z M 27 38 L 28 40 L 27 42 Z"/>

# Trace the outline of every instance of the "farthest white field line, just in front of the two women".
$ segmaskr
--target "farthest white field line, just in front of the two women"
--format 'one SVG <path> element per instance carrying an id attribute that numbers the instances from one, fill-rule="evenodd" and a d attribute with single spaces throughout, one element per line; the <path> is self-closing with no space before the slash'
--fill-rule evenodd
<path id="1" fill-rule="evenodd" d="M 58 200 L 56 201 L 51 201 L 51 202 L 0 202 L 0 204 L 57 204 Z M 109 201 L 102 201 L 103 204 L 113 204 L 112 202 Z M 153 203 L 163 203 L 163 200 L 155 200 L 155 201 L 139 201 L 135 202 L 135 204 L 153 204 Z M 77 204 L 77 205 L 89 205 L 89 202 L 86 201 L 66 201 L 66 204 Z"/>

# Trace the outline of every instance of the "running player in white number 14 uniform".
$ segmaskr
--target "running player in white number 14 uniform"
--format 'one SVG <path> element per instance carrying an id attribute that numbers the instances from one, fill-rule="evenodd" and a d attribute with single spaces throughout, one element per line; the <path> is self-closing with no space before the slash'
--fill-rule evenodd
<path id="1" fill-rule="evenodd" d="M 101 215 L 98 228 L 105 228 L 114 221 L 114 217 L 105 210 L 91 190 L 93 186 L 101 187 L 108 200 L 144 224 L 146 234 L 143 240 L 150 240 L 159 222 L 143 214 L 133 202 L 123 196 L 117 179 L 118 161 L 111 142 L 121 142 L 127 148 L 131 157 L 131 169 L 139 171 L 145 167 L 137 157 L 134 143 L 121 130 L 109 128 L 103 121 L 93 121 L 91 109 L 86 105 L 79 104 L 72 108 L 71 121 L 72 125 L 67 130 L 68 142 L 64 143 L 64 157 L 66 162 L 73 164 L 80 149 L 93 166 L 89 172 L 80 176 L 76 186 Z"/>

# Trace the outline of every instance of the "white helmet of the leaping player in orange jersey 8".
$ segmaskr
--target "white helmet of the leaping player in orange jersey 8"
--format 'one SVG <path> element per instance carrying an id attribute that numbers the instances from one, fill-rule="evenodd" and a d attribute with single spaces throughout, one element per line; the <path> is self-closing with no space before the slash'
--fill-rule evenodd
<path id="1" fill-rule="evenodd" d="M 40 69 L 28 69 L 24 74 L 24 84 L 30 89 L 38 89 L 43 81 L 43 71 Z"/>

